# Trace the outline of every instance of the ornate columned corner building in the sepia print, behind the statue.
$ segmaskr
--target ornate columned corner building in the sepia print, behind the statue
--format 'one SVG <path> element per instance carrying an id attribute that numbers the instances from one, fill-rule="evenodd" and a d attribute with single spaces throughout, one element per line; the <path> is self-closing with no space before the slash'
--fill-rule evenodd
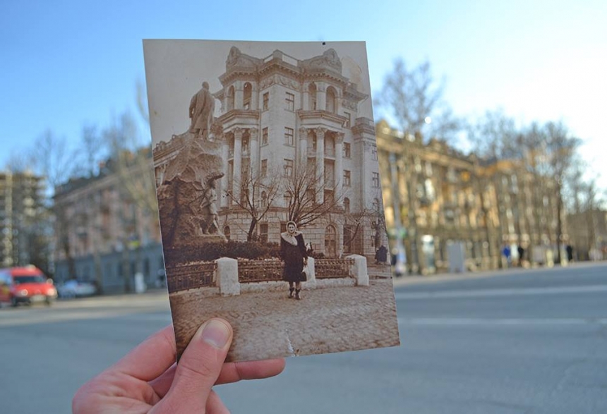
<path id="1" fill-rule="evenodd" d="M 219 79 L 211 129 L 224 160 L 217 209 L 227 238 L 277 243 L 295 219 L 327 257 L 373 257 L 387 245 L 375 129 L 358 111 L 368 91 L 344 75 L 335 50 L 299 60 L 232 47 Z M 186 135 L 155 146 L 157 183 Z"/>

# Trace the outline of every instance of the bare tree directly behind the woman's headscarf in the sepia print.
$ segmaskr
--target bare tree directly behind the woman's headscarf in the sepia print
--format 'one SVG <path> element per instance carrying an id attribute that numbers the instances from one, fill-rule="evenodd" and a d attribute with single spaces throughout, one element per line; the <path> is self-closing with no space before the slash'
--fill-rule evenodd
<path id="1" fill-rule="evenodd" d="M 284 170 L 282 190 L 287 204 L 288 220 L 295 221 L 298 227 L 313 223 L 334 212 L 342 204 L 343 188 L 339 190 L 337 180 L 326 185 L 324 178 L 313 163 L 299 162 L 294 169 Z"/>

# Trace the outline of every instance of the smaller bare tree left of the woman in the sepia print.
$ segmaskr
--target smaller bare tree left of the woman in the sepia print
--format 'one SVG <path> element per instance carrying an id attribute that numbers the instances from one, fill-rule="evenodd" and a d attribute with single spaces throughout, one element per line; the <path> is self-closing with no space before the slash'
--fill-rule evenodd
<path id="1" fill-rule="evenodd" d="M 259 173 L 248 167 L 236 185 L 240 188 L 239 197 L 235 197 L 232 190 L 227 190 L 225 194 L 234 205 L 248 214 L 251 221 L 246 231 L 246 240 L 255 241 L 258 223 L 263 221 L 272 207 L 276 207 L 275 200 L 280 193 L 282 177 L 277 171 Z"/>

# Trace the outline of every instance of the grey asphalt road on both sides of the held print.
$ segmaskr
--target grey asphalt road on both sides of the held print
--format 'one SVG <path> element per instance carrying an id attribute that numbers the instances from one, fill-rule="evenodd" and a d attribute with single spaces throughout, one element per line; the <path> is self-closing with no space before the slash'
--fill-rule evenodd
<path id="1" fill-rule="evenodd" d="M 403 345 L 289 358 L 217 387 L 232 413 L 607 413 L 607 264 L 397 281 Z M 170 322 L 167 296 L 0 310 L 0 411 L 73 393 Z"/>

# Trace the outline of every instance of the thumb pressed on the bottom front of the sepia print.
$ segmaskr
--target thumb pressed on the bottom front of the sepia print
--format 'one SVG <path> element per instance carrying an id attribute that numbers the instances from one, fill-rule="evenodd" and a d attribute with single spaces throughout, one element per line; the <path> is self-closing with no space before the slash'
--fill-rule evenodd
<path id="1" fill-rule="evenodd" d="M 232 327 L 210 319 L 192 337 L 177 364 L 173 384 L 163 398 L 174 413 L 204 413 L 232 343 Z"/>

